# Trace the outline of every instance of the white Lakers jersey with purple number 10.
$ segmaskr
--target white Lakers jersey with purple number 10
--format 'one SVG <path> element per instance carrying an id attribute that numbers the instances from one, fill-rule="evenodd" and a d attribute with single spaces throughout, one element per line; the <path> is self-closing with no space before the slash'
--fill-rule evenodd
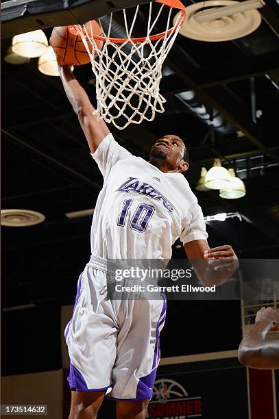
<path id="1" fill-rule="evenodd" d="M 181 173 L 162 173 L 108 134 L 92 154 L 104 176 L 91 253 L 106 259 L 170 259 L 171 246 L 206 240 L 197 198 Z"/>

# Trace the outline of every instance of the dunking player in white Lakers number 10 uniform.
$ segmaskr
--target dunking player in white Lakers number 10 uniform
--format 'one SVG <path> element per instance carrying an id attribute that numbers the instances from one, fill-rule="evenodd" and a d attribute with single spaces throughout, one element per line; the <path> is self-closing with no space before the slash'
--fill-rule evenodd
<path id="1" fill-rule="evenodd" d="M 165 135 L 151 147 L 149 162 L 135 157 L 93 115 L 70 67 L 59 70 L 104 177 L 93 216 L 92 255 L 78 281 L 65 331 L 73 390 L 70 419 L 96 418 L 108 388 L 117 401 L 117 419 L 143 419 L 160 359 L 166 301 L 106 299 L 107 259 L 170 259 L 179 237 L 189 259 L 221 258 L 225 263 L 214 268 L 224 279 L 235 270 L 231 263 L 237 257 L 231 246 L 208 247 L 202 210 L 183 175 L 189 167 L 184 142 Z M 204 272 L 197 275 L 202 283 L 212 283 Z"/>

